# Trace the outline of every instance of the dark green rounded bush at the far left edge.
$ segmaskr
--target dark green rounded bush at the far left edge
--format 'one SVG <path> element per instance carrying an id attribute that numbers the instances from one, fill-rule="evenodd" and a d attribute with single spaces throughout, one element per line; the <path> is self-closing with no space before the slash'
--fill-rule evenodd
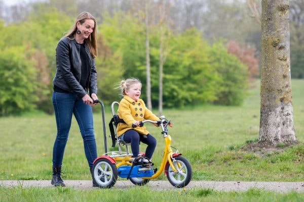
<path id="1" fill-rule="evenodd" d="M 0 115 L 21 114 L 35 108 L 36 71 L 24 46 L 0 51 Z"/>

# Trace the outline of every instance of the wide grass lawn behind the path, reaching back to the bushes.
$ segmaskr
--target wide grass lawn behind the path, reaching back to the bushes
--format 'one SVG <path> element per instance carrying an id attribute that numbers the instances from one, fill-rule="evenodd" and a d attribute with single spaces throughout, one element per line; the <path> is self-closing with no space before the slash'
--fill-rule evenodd
<path id="1" fill-rule="evenodd" d="M 261 151 L 262 155 L 240 149 L 258 137 L 259 83 L 256 86 L 248 91 L 247 99 L 240 107 L 204 105 L 164 110 L 163 114 L 173 122 L 173 128 L 169 130 L 171 145 L 191 162 L 194 180 L 304 181 L 302 143 L 282 152 Z M 300 142 L 304 141 L 303 90 L 304 80 L 292 80 L 294 125 Z M 110 106 L 105 108 L 107 126 L 111 113 Z M 101 113 L 94 114 L 94 123 L 98 155 L 102 155 Z M 163 138 L 159 128 L 146 126 L 158 139 L 153 157 L 158 166 L 163 155 Z M 108 135 L 108 127 L 106 129 Z M 0 118 L 0 179 L 51 179 L 55 136 L 54 115 Z M 107 144 L 111 145 L 110 138 Z M 144 151 L 144 144 L 140 147 Z M 62 169 L 64 179 L 90 179 L 82 138 L 74 118 Z"/>

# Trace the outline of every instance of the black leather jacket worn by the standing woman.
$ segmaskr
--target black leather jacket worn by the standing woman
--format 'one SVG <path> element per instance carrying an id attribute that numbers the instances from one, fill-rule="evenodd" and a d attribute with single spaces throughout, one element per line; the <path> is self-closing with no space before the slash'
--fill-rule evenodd
<path id="1" fill-rule="evenodd" d="M 90 78 L 88 90 L 90 95 L 97 94 L 97 72 L 95 67 L 95 59 L 92 58 L 87 44 L 86 52 L 90 61 Z M 63 37 L 59 40 L 56 47 L 56 74 L 53 84 L 69 92 L 75 92 L 79 97 L 87 94 L 80 84 L 81 78 L 81 60 L 80 60 L 80 44 L 75 39 Z"/>

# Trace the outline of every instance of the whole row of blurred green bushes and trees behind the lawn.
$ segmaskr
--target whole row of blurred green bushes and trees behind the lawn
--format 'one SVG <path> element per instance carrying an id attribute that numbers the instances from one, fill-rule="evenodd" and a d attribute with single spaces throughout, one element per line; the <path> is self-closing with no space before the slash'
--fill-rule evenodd
<path id="1" fill-rule="evenodd" d="M 73 20 L 55 8 L 37 5 L 26 22 L 0 24 L 0 116 L 33 109 L 52 113 L 55 48 Z M 122 78 L 142 81 L 145 99 L 145 25 L 139 18 L 116 13 L 98 26 L 98 95 L 105 104 L 119 100 Z M 158 106 L 158 26 L 150 26 L 151 97 Z M 196 28 L 175 33 L 165 27 L 164 107 L 194 104 L 240 105 L 247 88 L 247 68 L 228 54 L 222 40 L 213 45 Z M 11 101 L 13 100 L 13 102 Z"/>

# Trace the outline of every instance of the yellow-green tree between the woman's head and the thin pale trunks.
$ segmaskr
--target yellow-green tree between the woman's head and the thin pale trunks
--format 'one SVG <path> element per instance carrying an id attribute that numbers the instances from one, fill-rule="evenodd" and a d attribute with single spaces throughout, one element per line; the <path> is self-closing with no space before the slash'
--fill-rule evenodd
<path id="1" fill-rule="evenodd" d="M 116 82 L 113 82 L 112 86 L 108 86 L 108 89 L 113 89 L 122 77 L 139 78 L 143 84 L 142 88 L 145 89 L 144 24 L 129 15 L 117 13 L 112 18 L 105 18 L 98 28 L 105 44 L 109 46 L 112 56 L 118 57 L 118 60 L 113 58 L 111 63 L 117 60 L 115 65 L 120 66 L 118 71 L 123 73 L 113 75 L 113 81 Z M 109 68 L 109 70 L 102 71 L 115 71 L 112 65 L 102 68 Z M 142 92 L 142 97 L 145 97 L 145 90 Z"/>

